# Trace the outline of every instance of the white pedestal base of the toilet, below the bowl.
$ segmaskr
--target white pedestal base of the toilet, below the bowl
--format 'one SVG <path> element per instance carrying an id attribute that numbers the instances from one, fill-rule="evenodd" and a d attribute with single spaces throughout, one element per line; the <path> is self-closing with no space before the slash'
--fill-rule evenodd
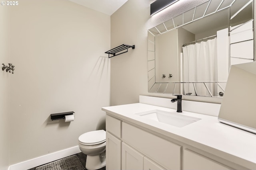
<path id="1" fill-rule="evenodd" d="M 95 156 L 87 155 L 85 164 L 87 170 L 98 170 L 104 166 L 106 166 L 106 152 Z"/>

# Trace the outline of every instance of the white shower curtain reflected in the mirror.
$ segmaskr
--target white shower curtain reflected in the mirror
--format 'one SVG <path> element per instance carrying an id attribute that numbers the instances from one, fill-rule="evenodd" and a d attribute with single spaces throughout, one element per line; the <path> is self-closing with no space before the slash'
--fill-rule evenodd
<path id="1" fill-rule="evenodd" d="M 217 38 L 187 45 L 182 49 L 184 82 L 218 82 Z"/>

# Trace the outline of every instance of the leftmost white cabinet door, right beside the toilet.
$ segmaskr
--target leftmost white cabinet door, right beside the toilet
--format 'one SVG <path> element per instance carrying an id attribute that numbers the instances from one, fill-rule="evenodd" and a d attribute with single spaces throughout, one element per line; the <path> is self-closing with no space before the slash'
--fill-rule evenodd
<path id="1" fill-rule="evenodd" d="M 106 170 L 121 169 L 122 141 L 106 132 Z"/>

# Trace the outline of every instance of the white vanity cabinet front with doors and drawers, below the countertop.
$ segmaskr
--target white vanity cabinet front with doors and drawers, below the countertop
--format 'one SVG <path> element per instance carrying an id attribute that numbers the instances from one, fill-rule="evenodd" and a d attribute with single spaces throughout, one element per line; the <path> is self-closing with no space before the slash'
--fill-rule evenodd
<path id="1" fill-rule="evenodd" d="M 195 147 L 110 115 L 106 115 L 107 170 L 248 170 L 239 158 L 230 162 L 222 153 L 203 150 L 203 145 Z"/>

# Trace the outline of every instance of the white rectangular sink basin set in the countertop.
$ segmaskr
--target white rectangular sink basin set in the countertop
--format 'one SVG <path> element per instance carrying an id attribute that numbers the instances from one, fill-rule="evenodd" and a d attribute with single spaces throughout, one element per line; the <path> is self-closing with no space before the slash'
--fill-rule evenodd
<path id="1" fill-rule="evenodd" d="M 190 123 L 194 123 L 198 120 L 201 120 L 196 117 L 182 115 L 177 112 L 168 112 L 162 110 L 150 110 L 140 113 L 135 113 L 136 115 L 142 116 L 146 119 L 151 119 L 154 121 L 166 123 L 176 127 L 184 127 Z"/>

